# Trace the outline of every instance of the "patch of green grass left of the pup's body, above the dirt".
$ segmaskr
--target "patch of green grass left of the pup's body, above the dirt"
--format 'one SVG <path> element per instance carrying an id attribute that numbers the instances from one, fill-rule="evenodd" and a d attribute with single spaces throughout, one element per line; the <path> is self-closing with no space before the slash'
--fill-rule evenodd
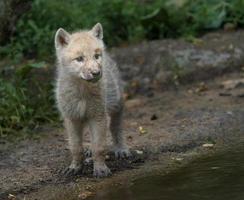
<path id="1" fill-rule="evenodd" d="M 0 138 L 30 133 L 45 123 L 58 121 L 52 83 L 35 77 L 32 71 L 36 69 L 32 68 L 36 66 L 18 66 L 10 77 L 0 78 Z M 5 73 L 2 69 L 1 74 Z"/>

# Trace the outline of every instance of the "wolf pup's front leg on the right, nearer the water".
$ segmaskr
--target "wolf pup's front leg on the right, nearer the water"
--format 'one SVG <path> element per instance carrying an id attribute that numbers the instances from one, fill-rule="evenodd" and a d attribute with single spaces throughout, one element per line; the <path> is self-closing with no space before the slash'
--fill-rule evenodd
<path id="1" fill-rule="evenodd" d="M 97 178 L 109 176 L 111 175 L 111 171 L 105 164 L 106 116 L 91 119 L 89 126 L 92 134 L 93 175 Z"/>

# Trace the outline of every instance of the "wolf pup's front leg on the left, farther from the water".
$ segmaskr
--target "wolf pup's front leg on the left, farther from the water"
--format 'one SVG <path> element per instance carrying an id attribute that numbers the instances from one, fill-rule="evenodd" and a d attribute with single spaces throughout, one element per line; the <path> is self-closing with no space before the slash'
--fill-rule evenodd
<path id="1" fill-rule="evenodd" d="M 82 134 L 84 123 L 81 120 L 65 119 L 65 128 L 68 134 L 69 148 L 72 154 L 72 162 L 64 171 L 66 175 L 76 175 L 82 169 Z"/>

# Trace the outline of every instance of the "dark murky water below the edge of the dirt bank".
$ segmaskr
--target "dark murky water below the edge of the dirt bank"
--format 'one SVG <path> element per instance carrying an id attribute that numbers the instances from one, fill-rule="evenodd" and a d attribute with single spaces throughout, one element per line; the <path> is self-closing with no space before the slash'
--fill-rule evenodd
<path id="1" fill-rule="evenodd" d="M 244 200 L 244 144 L 168 175 L 98 191 L 93 200 Z"/>

